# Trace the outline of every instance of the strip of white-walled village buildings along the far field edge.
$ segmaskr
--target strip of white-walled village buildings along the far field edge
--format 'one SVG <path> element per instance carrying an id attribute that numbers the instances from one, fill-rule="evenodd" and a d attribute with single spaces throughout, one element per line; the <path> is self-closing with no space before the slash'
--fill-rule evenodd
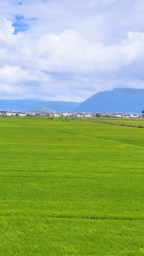
<path id="1" fill-rule="evenodd" d="M 1 116 L 41 116 L 41 117 L 108 117 L 108 118 L 142 118 L 142 113 L 94 113 L 94 112 L 20 112 L 20 111 L 0 111 Z"/>

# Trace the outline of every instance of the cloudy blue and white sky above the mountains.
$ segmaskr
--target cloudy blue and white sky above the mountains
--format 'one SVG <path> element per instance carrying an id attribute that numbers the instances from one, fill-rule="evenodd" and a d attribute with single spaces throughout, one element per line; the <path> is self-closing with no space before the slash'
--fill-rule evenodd
<path id="1" fill-rule="evenodd" d="M 0 0 L 0 99 L 144 88 L 144 0 Z"/>

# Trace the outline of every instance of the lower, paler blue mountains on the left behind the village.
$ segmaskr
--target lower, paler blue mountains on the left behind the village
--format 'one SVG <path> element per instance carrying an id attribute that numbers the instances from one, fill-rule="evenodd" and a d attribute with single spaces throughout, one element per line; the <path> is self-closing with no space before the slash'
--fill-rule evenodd
<path id="1" fill-rule="evenodd" d="M 80 103 L 65 101 L 46 101 L 38 99 L 1 99 L 0 110 L 7 111 L 72 111 Z"/>

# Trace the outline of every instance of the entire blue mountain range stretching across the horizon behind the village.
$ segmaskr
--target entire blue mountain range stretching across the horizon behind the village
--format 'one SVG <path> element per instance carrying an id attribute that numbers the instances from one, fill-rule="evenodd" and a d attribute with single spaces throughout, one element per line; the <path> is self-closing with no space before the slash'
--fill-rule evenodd
<path id="1" fill-rule="evenodd" d="M 98 92 L 80 103 L 38 99 L 3 99 L 0 100 L 0 110 L 139 113 L 144 110 L 144 89 L 115 88 L 111 91 Z"/>

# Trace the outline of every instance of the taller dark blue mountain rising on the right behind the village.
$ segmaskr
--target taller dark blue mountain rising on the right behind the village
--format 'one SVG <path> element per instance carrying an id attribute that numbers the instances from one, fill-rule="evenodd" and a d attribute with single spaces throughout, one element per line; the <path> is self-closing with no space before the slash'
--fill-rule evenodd
<path id="1" fill-rule="evenodd" d="M 144 89 L 116 88 L 99 92 L 75 108 L 77 112 L 126 112 L 144 110 Z"/>

